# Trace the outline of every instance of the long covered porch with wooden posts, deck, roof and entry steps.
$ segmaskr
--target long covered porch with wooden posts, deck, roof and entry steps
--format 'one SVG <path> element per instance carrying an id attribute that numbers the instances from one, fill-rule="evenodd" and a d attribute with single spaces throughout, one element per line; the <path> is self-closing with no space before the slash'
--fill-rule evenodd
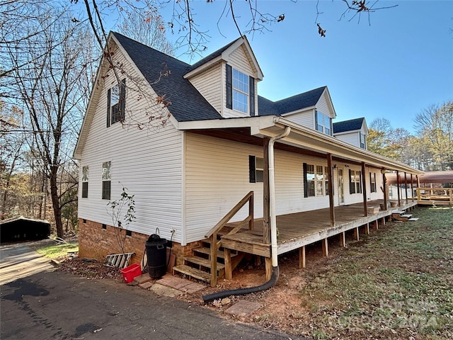
<path id="1" fill-rule="evenodd" d="M 263 256 L 266 276 L 270 278 L 273 271 L 277 271 L 277 255 L 300 249 L 300 265 L 303 267 L 304 247 L 307 244 L 322 241 L 324 254 L 327 255 L 328 237 L 340 234 L 344 245 L 345 232 L 354 229 L 356 237 L 359 237 L 360 227 L 365 226 L 365 230 L 369 231 L 370 225 L 377 227 L 379 220 L 384 223 L 394 210 L 406 210 L 417 204 L 413 200 L 409 201 L 408 196 L 404 200 L 398 196 L 397 203 L 393 202 L 396 207 L 392 205 L 392 208 L 387 208 L 389 199 L 386 174 L 397 171 L 407 181 L 414 177 L 417 179 L 422 171 L 282 117 L 231 118 L 212 121 L 208 125 L 206 122 L 202 125 L 188 122 L 181 123 L 179 128 L 194 135 L 262 148 L 262 153 L 248 153 L 248 160 L 250 164 L 251 154 L 252 157 L 260 154 L 263 157 L 260 164 L 262 178 L 256 181 L 256 172 L 251 172 L 254 176 L 253 180 L 252 176 L 249 180 L 250 183 L 263 182 L 260 188 L 256 186 L 259 195 L 255 198 L 262 202 L 258 204 L 263 210 L 258 213 L 263 218 L 254 218 L 251 191 L 204 234 L 205 239 L 201 242 L 210 244 L 209 249 L 206 249 L 207 246 L 193 249 L 194 253 L 206 254 L 205 259 L 197 256 L 187 256 L 184 259 L 185 263 L 195 263 L 195 267 L 200 270 L 208 268 L 210 276 L 205 277 L 206 272 L 194 273 L 187 266 L 176 268 L 195 278 L 210 280 L 213 287 L 217 284 L 217 278 L 231 278 L 232 269 L 240 261 L 240 256 L 234 256 L 236 251 Z M 280 162 L 275 162 L 275 152 L 280 154 Z M 286 158 L 281 157 L 282 154 Z M 252 158 L 253 171 L 258 169 L 255 159 Z M 292 162 L 292 159 L 297 161 Z M 318 168 L 322 170 L 322 176 L 318 174 Z M 249 165 L 249 171 L 250 169 Z M 296 170 L 285 176 L 288 169 Z M 370 173 L 374 174 L 374 181 Z M 316 191 L 315 179 L 321 190 Z M 293 190 L 293 186 L 297 188 Z M 349 186 L 349 193 L 345 186 Z M 282 212 L 277 215 L 276 207 L 285 207 L 288 200 L 292 200 L 294 204 L 292 211 L 305 211 L 285 214 L 290 210 L 281 209 Z M 361 202 L 357 203 L 359 200 Z M 248 216 L 240 222 L 230 223 L 247 202 Z M 383 210 L 379 210 L 381 204 Z M 323 208 L 316 209 L 317 207 Z M 239 214 L 241 218 L 243 212 L 241 210 Z"/>

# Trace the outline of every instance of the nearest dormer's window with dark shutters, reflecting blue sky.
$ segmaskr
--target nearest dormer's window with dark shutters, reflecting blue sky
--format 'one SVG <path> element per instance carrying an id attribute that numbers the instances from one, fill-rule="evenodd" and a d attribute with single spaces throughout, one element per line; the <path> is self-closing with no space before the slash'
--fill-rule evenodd
<path id="1" fill-rule="evenodd" d="M 226 64 L 226 108 L 255 115 L 255 79 Z"/>

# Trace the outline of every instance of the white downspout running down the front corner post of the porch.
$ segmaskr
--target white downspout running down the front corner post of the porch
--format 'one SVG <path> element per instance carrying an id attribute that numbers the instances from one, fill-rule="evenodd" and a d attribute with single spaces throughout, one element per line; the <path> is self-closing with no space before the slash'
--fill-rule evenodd
<path id="1" fill-rule="evenodd" d="M 275 216 L 275 171 L 274 171 L 274 143 L 276 140 L 287 137 L 291 132 L 291 128 L 287 126 L 285 131 L 280 135 L 270 138 L 268 158 L 269 158 L 269 219 L 270 219 L 270 244 L 272 249 L 272 266 L 278 266 L 277 260 L 277 216 Z"/>

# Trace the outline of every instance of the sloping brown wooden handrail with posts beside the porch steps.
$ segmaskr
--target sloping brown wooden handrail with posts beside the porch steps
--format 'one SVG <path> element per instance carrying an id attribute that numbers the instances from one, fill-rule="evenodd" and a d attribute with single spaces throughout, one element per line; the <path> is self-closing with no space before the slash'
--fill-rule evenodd
<path id="1" fill-rule="evenodd" d="M 250 191 L 246 196 L 244 196 L 239 203 L 234 205 L 234 207 L 226 213 L 226 215 L 220 220 L 217 225 L 214 225 L 212 229 L 210 229 L 205 237 L 210 239 L 211 242 L 211 287 L 215 287 L 217 285 L 217 250 L 222 246 L 222 241 L 217 242 L 217 233 L 226 225 L 226 223 L 231 220 L 231 218 L 236 215 L 241 208 L 248 203 L 248 216 L 246 220 L 248 222 L 248 229 L 253 230 L 253 191 Z M 244 222 L 243 221 L 243 222 Z M 242 223 L 241 223 L 242 225 Z M 239 228 L 234 228 L 231 230 L 232 232 L 238 232 Z"/>

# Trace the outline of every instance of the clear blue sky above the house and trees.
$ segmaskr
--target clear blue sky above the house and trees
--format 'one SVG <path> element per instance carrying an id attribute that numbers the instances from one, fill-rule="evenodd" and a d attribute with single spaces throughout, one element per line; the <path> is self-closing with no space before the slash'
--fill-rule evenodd
<path id="1" fill-rule="evenodd" d="M 246 1 L 236 1 L 246 20 Z M 371 1 L 369 1 L 371 4 Z M 386 118 L 394 128 L 413 132 L 413 118 L 431 104 L 453 100 L 453 1 L 380 0 L 375 8 L 393 6 L 340 19 L 343 1 L 260 0 L 263 13 L 285 13 L 285 20 L 270 32 L 248 35 L 264 79 L 258 93 L 276 101 L 319 86 L 328 86 L 337 119 L 365 117 L 367 123 Z M 230 18 L 221 18 L 224 1 L 194 1 L 195 21 L 209 30 L 208 55 L 238 38 Z M 243 7 L 243 9 L 242 9 Z M 162 12 L 168 21 L 168 10 Z M 371 25 L 369 25 L 371 23 Z M 169 35 L 171 41 L 177 35 Z M 182 48 L 179 59 L 190 61 Z"/>

